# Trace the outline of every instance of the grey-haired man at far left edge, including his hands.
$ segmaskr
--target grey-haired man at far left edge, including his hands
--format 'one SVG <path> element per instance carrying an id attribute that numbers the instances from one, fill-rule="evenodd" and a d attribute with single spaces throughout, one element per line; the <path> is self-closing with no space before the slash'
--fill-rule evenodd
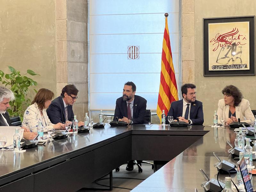
<path id="1" fill-rule="evenodd" d="M 14 94 L 10 89 L 7 89 L 6 87 L 0 87 L 0 126 L 12 126 L 7 109 L 10 108 L 9 102 L 14 100 L 14 98 Z M 31 140 L 37 136 L 36 132 L 30 132 L 29 129 L 25 127 L 21 128 L 24 129 L 24 139 Z"/>

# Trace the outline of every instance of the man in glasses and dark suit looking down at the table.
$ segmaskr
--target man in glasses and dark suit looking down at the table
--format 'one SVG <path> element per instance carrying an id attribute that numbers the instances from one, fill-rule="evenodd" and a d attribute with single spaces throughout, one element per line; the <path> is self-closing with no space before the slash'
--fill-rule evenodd
<path id="1" fill-rule="evenodd" d="M 74 120 L 72 105 L 76 102 L 78 90 L 75 85 L 69 84 L 63 87 L 59 97 L 55 98 L 46 110 L 53 124 Z M 84 126 L 84 122 L 78 122 L 78 126 Z"/>

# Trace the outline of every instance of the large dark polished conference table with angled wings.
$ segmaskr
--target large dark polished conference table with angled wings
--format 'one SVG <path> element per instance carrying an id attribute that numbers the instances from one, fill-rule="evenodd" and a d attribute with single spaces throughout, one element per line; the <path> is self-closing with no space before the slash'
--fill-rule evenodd
<path id="1" fill-rule="evenodd" d="M 133 191 L 200 191 L 199 169 L 215 177 L 212 152 L 230 159 L 234 138 L 229 127 L 105 125 L 25 153 L 0 151 L 0 191 L 77 191 L 131 159 L 171 160 Z"/>

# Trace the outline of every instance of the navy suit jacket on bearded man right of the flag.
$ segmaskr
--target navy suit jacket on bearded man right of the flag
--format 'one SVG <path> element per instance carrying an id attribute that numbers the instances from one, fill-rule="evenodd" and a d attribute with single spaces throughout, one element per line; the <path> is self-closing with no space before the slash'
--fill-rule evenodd
<path id="1" fill-rule="evenodd" d="M 166 116 L 166 124 L 169 124 L 168 116 L 173 116 L 173 119 L 175 120 L 177 117 L 182 116 L 182 111 L 183 99 L 173 101 Z M 202 125 L 204 123 L 203 103 L 201 101 L 195 100 L 195 102 L 191 103 L 189 117 L 193 125 Z"/>

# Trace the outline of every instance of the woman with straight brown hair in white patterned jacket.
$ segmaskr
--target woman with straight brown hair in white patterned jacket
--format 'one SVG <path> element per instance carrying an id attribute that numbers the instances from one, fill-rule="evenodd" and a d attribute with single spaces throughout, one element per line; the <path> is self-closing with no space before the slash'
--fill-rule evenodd
<path id="1" fill-rule="evenodd" d="M 39 89 L 36 93 L 31 105 L 25 110 L 22 121 L 22 126 L 30 129 L 32 132 L 37 132 L 38 122 L 41 120 L 44 127 L 44 132 L 48 128 L 65 129 L 64 124 L 52 124 L 47 116 L 46 109 L 52 102 L 54 93 L 48 89 Z"/>

